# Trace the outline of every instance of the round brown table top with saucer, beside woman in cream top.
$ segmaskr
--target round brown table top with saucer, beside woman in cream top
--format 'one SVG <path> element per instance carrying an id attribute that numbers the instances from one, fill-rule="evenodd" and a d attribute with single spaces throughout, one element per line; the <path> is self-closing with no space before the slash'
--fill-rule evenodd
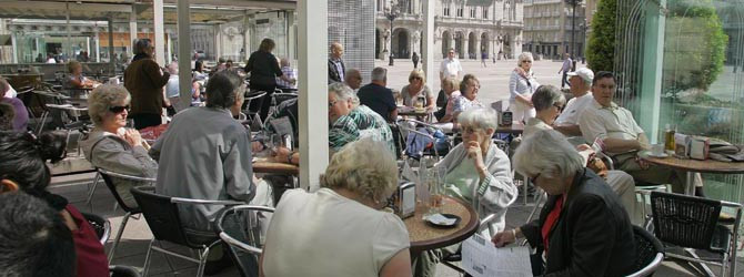
<path id="1" fill-rule="evenodd" d="M 413 216 L 403 219 L 405 228 L 409 230 L 412 253 L 436 249 L 460 243 L 477 230 L 479 218 L 475 209 L 460 199 L 444 196 L 442 204 L 443 214 L 460 216 L 460 223 L 454 228 L 439 228 L 425 223 L 421 218 L 426 214 L 428 209 L 426 205 L 416 205 L 416 212 Z"/>

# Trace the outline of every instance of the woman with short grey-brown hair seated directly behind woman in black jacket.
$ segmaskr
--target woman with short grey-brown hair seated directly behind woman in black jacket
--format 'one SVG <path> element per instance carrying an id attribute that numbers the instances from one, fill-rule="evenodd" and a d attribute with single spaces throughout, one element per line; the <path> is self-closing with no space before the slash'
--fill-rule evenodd
<path id="1" fill-rule="evenodd" d="M 524 137 L 527 137 L 540 130 L 553 130 L 552 125 L 555 119 L 561 114 L 563 105 L 565 105 L 565 96 L 554 85 L 541 85 L 534 94 L 532 94 L 532 103 L 534 104 L 536 116 L 529 119 L 524 126 Z M 582 164 L 587 165 L 594 173 L 603 177 L 612 191 L 620 196 L 623 207 L 631 215 L 634 223 L 641 224 L 643 215 L 635 215 L 635 181 L 633 176 L 623 171 L 607 171 L 607 167 L 602 162 L 594 161 L 594 150 L 586 144 L 576 146 L 576 151 L 582 157 Z M 641 212 L 641 211 L 637 211 Z"/>

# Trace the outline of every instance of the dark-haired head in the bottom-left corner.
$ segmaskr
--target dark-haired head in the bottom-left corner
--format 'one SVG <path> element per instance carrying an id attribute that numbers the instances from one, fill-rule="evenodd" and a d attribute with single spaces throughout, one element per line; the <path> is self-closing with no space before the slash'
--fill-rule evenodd
<path id="1" fill-rule="evenodd" d="M 3 276 L 77 276 L 72 233 L 60 214 L 37 197 L 0 194 L 0 245 Z"/>

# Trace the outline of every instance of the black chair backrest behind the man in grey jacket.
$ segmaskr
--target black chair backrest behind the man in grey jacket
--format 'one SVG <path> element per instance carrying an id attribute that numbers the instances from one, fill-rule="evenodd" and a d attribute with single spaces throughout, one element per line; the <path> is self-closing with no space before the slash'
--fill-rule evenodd
<path id="1" fill-rule="evenodd" d="M 157 194 L 154 191 L 152 186 L 138 186 L 131 189 L 155 239 L 199 247 L 187 239 L 178 207 L 171 203 L 171 197 Z"/>

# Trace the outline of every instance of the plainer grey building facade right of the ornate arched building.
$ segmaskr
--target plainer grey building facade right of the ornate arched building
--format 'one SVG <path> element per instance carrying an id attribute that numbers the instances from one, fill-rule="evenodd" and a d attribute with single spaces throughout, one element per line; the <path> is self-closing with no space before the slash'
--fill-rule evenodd
<path id="1" fill-rule="evenodd" d="M 522 48 L 542 59 L 562 59 L 563 53 L 572 52 L 573 41 L 575 43 L 573 55 L 584 57 L 587 28 L 584 10 L 582 1 L 576 6 L 574 20 L 573 7 L 565 0 L 525 0 Z"/>

